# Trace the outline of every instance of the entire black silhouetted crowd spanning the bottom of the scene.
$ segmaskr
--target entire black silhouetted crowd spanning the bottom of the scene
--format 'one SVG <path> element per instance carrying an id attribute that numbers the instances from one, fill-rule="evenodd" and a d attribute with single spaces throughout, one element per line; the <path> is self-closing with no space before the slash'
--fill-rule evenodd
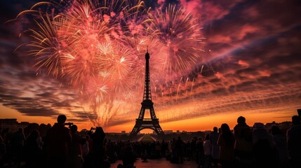
<path id="1" fill-rule="evenodd" d="M 262 123 L 253 127 L 246 118 L 237 119 L 230 129 L 226 123 L 204 137 L 182 141 L 111 141 L 105 139 L 102 127 L 91 128 L 85 136 L 76 125 L 65 126 L 66 116 L 58 116 L 58 123 L 41 137 L 38 130 L 25 137 L 19 129 L 8 139 L 7 130 L 0 136 L 0 167 L 110 167 L 117 160 L 118 167 L 135 167 L 137 158 L 166 158 L 181 164 L 196 161 L 198 167 L 301 167 L 300 116 L 293 116 L 292 127 L 286 134 L 279 127 L 266 130 Z M 22 164 L 21 164 L 22 163 Z M 25 163 L 25 164 L 24 164 Z"/>

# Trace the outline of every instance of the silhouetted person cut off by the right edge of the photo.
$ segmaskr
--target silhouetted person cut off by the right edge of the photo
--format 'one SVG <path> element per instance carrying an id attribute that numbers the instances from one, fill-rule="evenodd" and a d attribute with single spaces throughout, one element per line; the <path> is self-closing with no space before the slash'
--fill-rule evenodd
<path id="1" fill-rule="evenodd" d="M 290 167 L 300 167 L 301 163 L 301 125 L 300 116 L 292 117 L 293 126 L 286 132 L 288 141 L 288 160 Z"/>

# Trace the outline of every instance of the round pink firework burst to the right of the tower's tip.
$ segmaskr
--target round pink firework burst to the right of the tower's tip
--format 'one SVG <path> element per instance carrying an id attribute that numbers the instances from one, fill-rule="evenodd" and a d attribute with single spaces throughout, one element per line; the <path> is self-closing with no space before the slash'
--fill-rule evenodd
<path id="1" fill-rule="evenodd" d="M 169 5 L 149 13 L 147 33 L 164 44 L 163 70 L 168 76 L 183 76 L 199 62 L 203 38 L 201 27 L 185 8 Z"/>

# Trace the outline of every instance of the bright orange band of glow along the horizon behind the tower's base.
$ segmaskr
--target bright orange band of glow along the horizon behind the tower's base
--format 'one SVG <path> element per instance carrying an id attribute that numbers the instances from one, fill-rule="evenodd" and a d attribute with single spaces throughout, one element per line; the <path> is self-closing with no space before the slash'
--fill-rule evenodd
<path id="1" fill-rule="evenodd" d="M 29 123 L 50 123 L 53 125 L 56 122 L 56 118 L 50 117 L 32 117 L 32 116 L 23 116 L 13 109 L 9 109 L 6 106 L 0 106 L 1 111 L 6 111 L 6 113 L 0 113 L 0 118 L 17 118 L 18 122 L 29 122 Z M 291 116 L 297 115 L 295 111 L 293 112 L 283 112 L 280 113 L 275 112 L 266 112 L 266 113 L 250 113 L 248 112 L 232 112 L 232 113 L 221 113 L 212 116 L 205 116 L 200 118 L 192 118 L 187 120 L 178 120 L 167 123 L 160 123 L 163 130 L 173 130 L 176 132 L 179 130 L 187 131 L 187 132 L 197 132 L 197 131 L 206 131 L 213 130 L 213 127 L 220 127 L 222 123 L 227 123 L 231 129 L 236 125 L 236 119 L 239 116 L 244 116 L 246 118 L 246 123 L 252 127 L 254 123 L 272 123 L 275 121 L 276 123 L 281 123 L 283 121 L 290 121 Z M 67 118 L 66 122 L 70 122 L 70 118 Z M 74 123 L 74 122 L 72 122 Z M 81 122 L 74 123 L 79 127 L 79 131 L 86 129 L 90 130 L 91 127 L 94 127 L 91 122 Z M 135 118 L 133 118 L 133 122 L 125 123 L 122 125 L 114 125 L 112 127 L 104 127 L 105 132 L 116 132 L 120 133 L 121 131 L 131 132 L 133 126 L 135 125 Z M 152 130 L 142 130 L 143 133 L 152 133 Z"/>

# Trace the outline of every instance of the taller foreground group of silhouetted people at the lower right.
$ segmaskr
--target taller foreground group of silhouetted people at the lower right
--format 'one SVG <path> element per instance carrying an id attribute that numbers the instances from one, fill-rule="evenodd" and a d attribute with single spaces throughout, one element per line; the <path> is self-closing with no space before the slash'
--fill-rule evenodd
<path id="1" fill-rule="evenodd" d="M 300 116 L 293 116 L 292 124 L 283 134 L 276 125 L 270 130 L 263 123 L 250 127 L 240 116 L 233 130 L 226 123 L 220 131 L 214 127 L 203 141 L 199 167 L 301 167 Z"/>

